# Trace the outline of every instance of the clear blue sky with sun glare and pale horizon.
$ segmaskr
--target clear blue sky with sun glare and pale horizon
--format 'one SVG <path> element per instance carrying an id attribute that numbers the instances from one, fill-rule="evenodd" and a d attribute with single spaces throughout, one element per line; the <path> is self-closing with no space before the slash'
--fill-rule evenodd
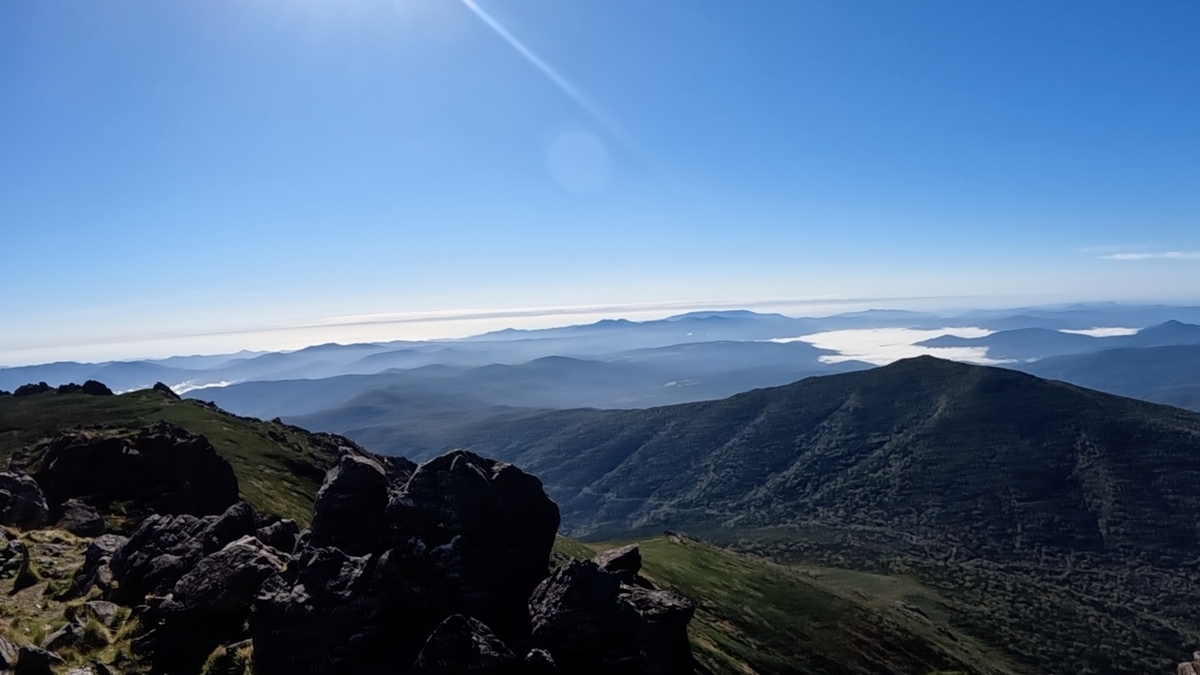
<path id="1" fill-rule="evenodd" d="M 1196 36 L 1194 0 L 4 2 L 0 364 L 1198 301 Z"/>

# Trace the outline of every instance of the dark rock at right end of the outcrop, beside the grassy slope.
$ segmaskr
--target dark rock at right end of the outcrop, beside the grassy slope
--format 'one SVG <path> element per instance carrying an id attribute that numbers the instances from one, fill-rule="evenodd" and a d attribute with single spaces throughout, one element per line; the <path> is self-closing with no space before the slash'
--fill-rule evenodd
<path id="1" fill-rule="evenodd" d="M 694 607 L 620 583 L 592 561 L 558 568 L 529 598 L 533 643 L 566 673 L 690 675 Z"/>

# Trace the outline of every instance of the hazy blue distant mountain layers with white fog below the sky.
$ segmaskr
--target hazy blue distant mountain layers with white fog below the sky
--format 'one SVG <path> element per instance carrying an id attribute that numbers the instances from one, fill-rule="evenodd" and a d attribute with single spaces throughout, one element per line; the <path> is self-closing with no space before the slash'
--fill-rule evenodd
<path id="1" fill-rule="evenodd" d="M 264 418 L 330 411 L 372 392 L 388 392 L 392 399 L 445 401 L 458 408 L 647 408 L 869 368 L 854 360 L 858 357 L 829 347 L 836 341 L 818 340 L 828 348 L 817 348 L 800 338 L 860 331 L 842 338 L 852 346 L 856 340 L 869 341 L 880 329 L 971 327 L 996 331 L 983 338 L 942 335 L 920 342 L 918 350 L 955 358 L 985 354 L 992 362 L 1012 362 L 1014 368 L 1048 377 L 1195 406 L 1192 388 L 1200 386 L 1200 377 L 1181 377 L 1178 369 L 1154 363 L 1150 354 L 1122 352 L 1079 368 L 1040 365 L 1114 348 L 1200 345 L 1200 325 L 1186 321 L 1200 321 L 1200 307 L 1094 304 L 953 316 L 870 310 L 806 318 L 706 311 L 659 321 L 509 329 L 462 340 L 329 344 L 294 352 L 7 368 L 0 369 L 0 390 L 29 382 L 58 386 L 97 380 L 122 392 L 163 382 L 184 395 Z M 1114 327 L 1136 333 L 1109 338 L 1064 333 Z M 970 347 L 972 356 L 954 351 L 962 347 Z M 847 353 L 857 352 L 851 348 Z M 1171 353 L 1154 352 L 1159 358 Z M 1110 369 L 1127 371 L 1130 363 L 1140 364 L 1136 377 L 1104 375 Z"/>

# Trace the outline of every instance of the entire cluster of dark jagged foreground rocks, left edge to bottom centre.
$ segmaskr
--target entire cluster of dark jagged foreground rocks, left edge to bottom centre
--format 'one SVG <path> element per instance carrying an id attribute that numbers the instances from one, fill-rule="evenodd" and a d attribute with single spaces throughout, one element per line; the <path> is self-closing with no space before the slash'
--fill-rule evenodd
<path id="1" fill-rule="evenodd" d="M 160 673 L 241 674 L 251 652 L 258 675 L 695 671 L 692 605 L 638 575 L 636 548 L 551 572 L 559 512 L 541 482 L 469 452 L 418 466 L 343 448 L 304 531 L 238 502 L 229 465 L 166 424 L 66 434 L 20 468 L 0 474 L 5 522 L 95 537 L 67 595 L 103 598 L 42 647 L 124 605 Z M 131 500 L 137 527 L 106 532 L 102 512 Z M 14 658 L 41 668 L 30 653 Z"/>

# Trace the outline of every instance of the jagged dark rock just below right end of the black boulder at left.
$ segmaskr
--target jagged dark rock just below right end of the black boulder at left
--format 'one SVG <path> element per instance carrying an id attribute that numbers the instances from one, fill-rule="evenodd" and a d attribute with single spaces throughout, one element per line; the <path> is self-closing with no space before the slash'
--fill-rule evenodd
<path id="1" fill-rule="evenodd" d="M 226 544 L 253 536 L 254 509 L 236 503 L 221 515 L 152 515 L 130 536 L 109 567 L 116 579 L 110 599 L 139 604 L 146 596 L 163 596 L 204 556 Z"/>

